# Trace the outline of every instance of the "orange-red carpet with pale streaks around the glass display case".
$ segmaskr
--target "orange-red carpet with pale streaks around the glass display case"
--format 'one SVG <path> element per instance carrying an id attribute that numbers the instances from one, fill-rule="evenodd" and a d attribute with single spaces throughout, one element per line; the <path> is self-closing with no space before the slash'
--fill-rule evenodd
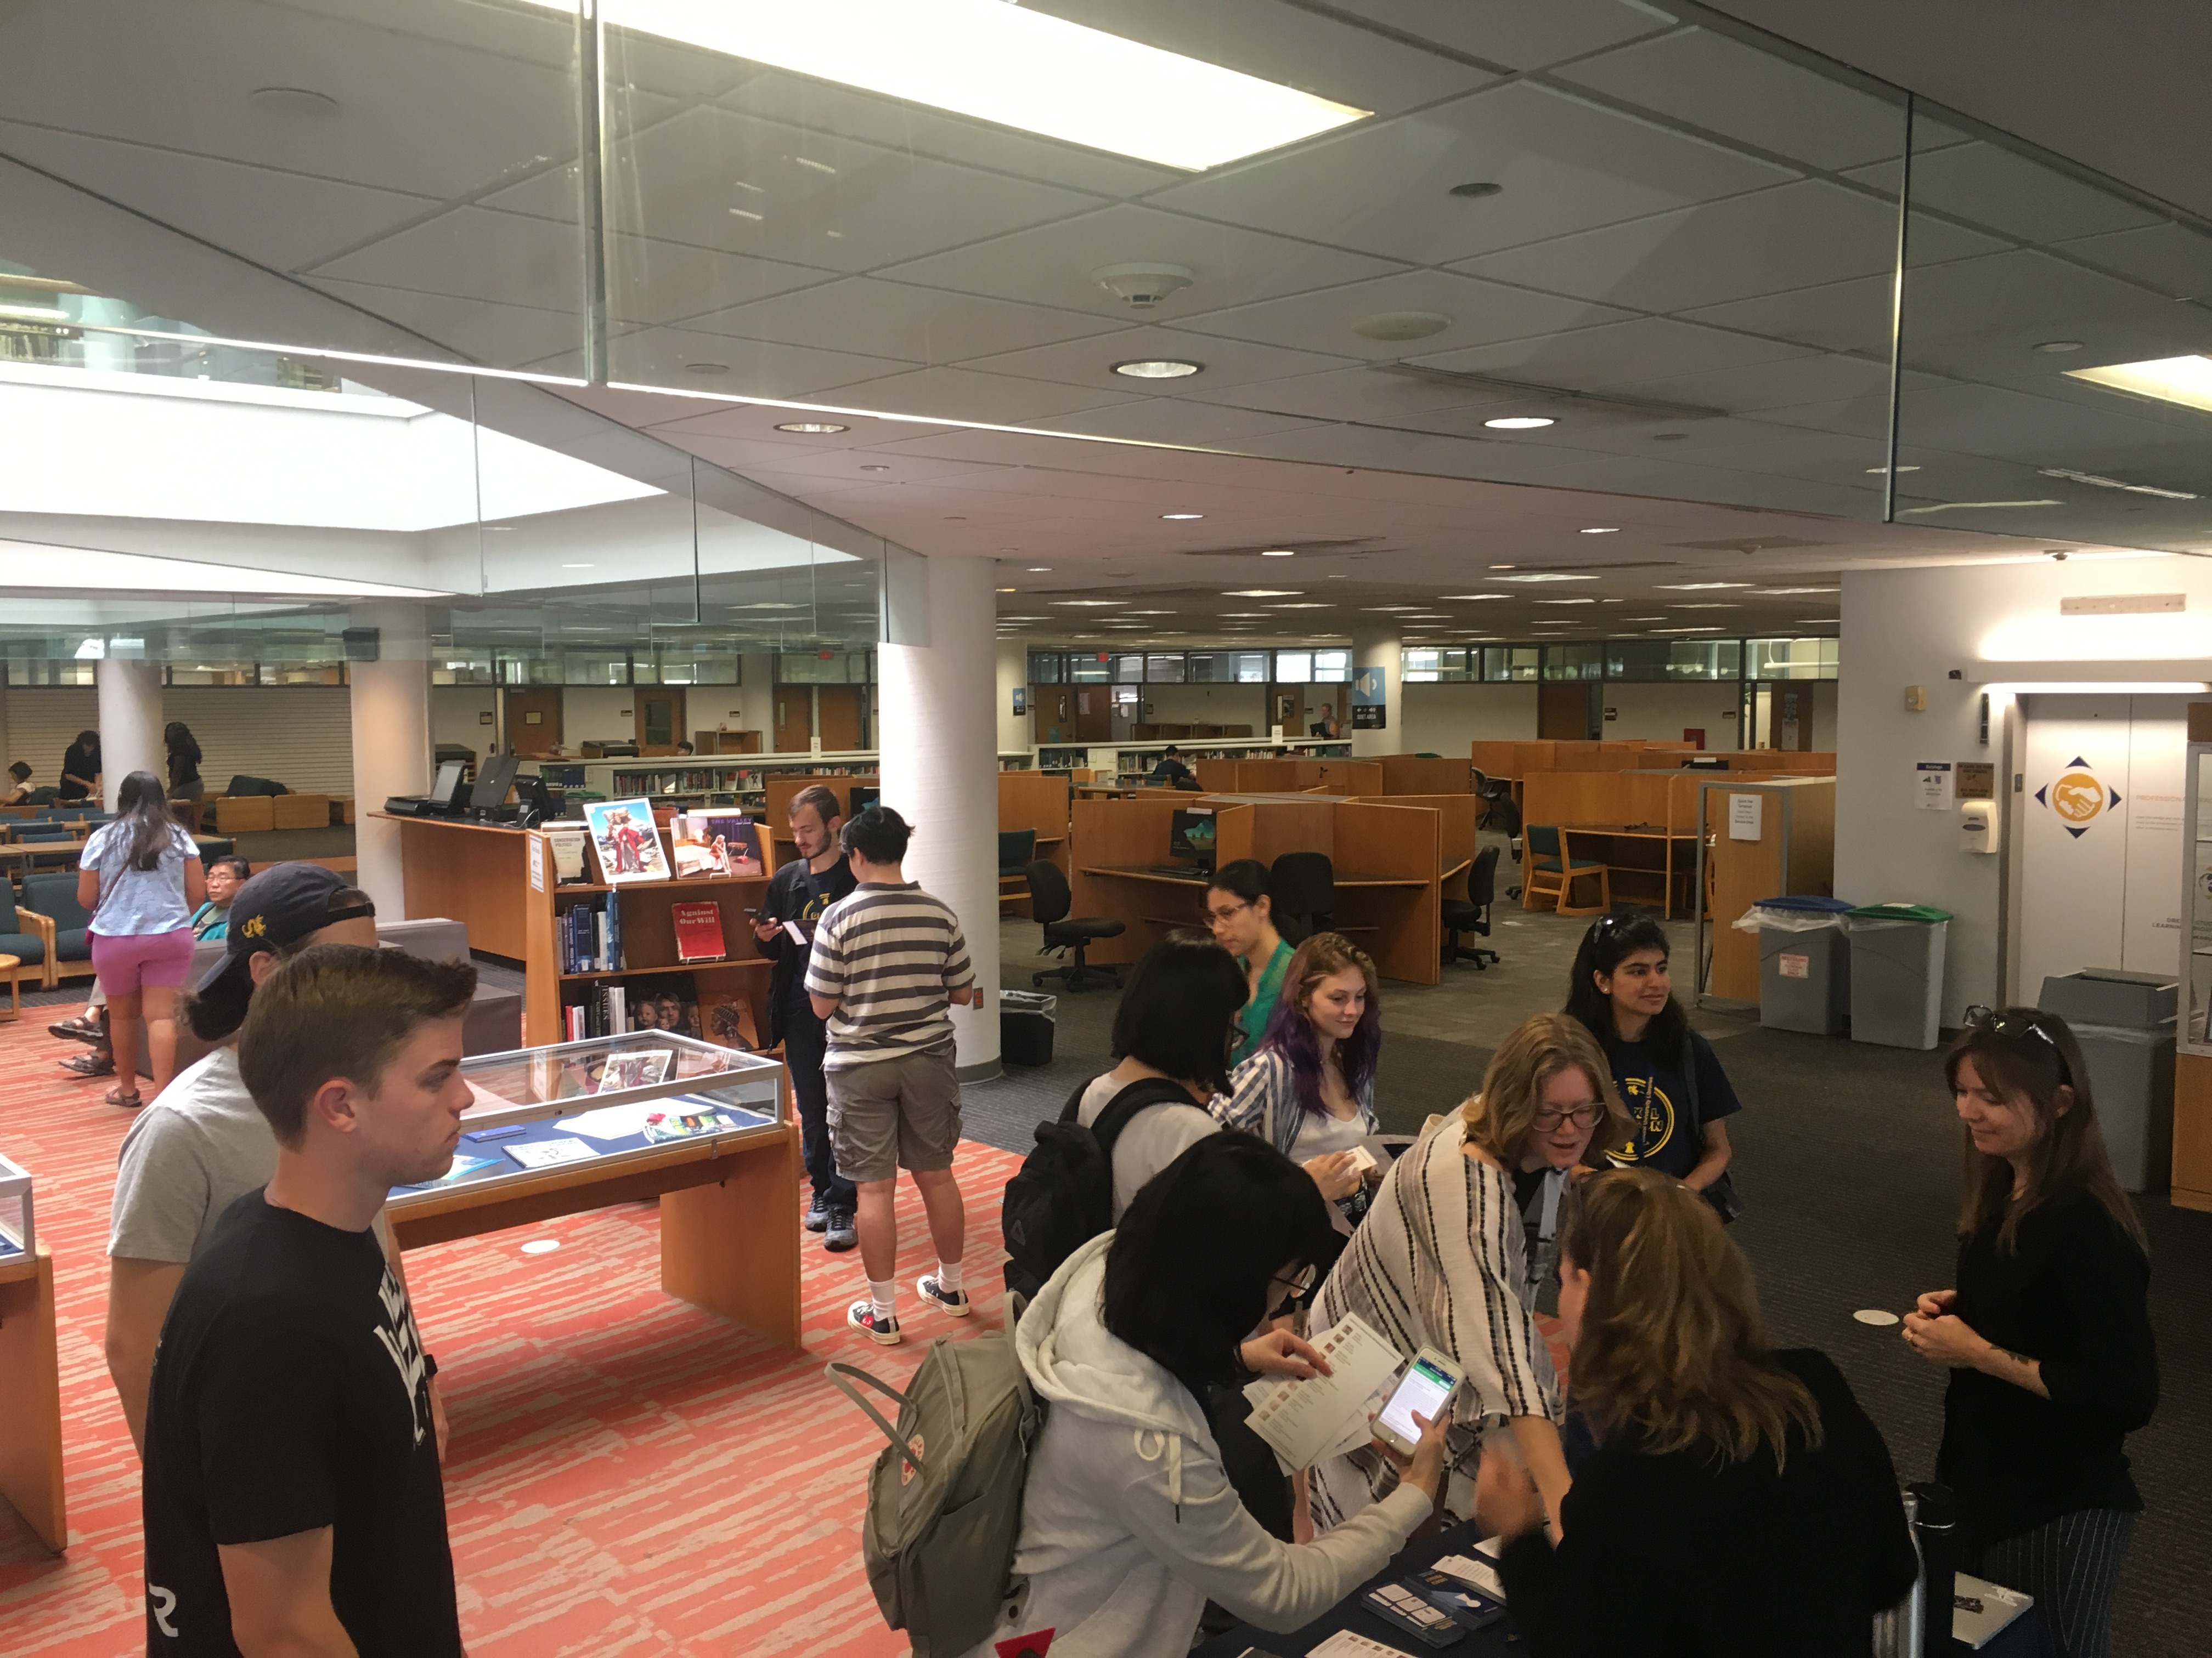
<path id="1" fill-rule="evenodd" d="M 0 1150 L 38 1176 L 58 1269 L 69 1552 L 0 1503 L 0 1649 L 144 1651 L 139 1477 L 102 1357 L 106 1220 L 128 1114 L 44 1008 L 0 1026 Z M 803 1353 L 768 1346 L 659 1289 L 657 1211 L 628 1205 L 407 1256 L 416 1318 L 453 1424 L 447 1514 L 476 1658 L 513 1654 L 810 1654 L 896 1658 L 860 1572 L 863 1477 L 883 1437 L 821 1366 L 905 1377 L 922 1344 L 998 1322 L 998 1200 L 1018 1158 L 962 1145 L 978 1318 L 914 1307 L 931 1253 L 911 1189 L 900 1253 L 907 1344 L 843 1326 L 858 1256 L 805 1249 Z M 524 1256 L 529 1238 L 557 1238 Z M 4 1408 L 4 1402 L 0 1402 Z"/>

